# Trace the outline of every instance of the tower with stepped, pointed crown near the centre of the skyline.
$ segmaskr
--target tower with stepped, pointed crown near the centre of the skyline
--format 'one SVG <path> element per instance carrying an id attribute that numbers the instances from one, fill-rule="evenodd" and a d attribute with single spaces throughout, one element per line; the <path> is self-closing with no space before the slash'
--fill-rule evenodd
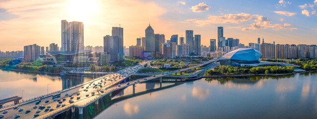
<path id="1" fill-rule="evenodd" d="M 145 51 L 155 51 L 155 35 L 151 25 L 145 29 Z"/>

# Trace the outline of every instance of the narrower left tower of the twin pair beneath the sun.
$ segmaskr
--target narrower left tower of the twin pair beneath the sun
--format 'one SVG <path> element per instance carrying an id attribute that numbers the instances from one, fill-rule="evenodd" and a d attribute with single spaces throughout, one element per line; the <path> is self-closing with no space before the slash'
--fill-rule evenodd
<path id="1" fill-rule="evenodd" d="M 62 51 L 70 51 L 69 23 L 66 20 L 62 20 Z"/>

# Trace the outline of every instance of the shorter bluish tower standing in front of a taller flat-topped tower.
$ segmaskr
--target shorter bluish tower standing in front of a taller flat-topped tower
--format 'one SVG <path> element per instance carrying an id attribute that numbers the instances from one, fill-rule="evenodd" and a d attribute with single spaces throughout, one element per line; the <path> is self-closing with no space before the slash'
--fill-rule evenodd
<path id="1" fill-rule="evenodd" d="M 104 36 L 104 52 L 110 55 L 110 61 L 120 60 L 119 36 Z"/>

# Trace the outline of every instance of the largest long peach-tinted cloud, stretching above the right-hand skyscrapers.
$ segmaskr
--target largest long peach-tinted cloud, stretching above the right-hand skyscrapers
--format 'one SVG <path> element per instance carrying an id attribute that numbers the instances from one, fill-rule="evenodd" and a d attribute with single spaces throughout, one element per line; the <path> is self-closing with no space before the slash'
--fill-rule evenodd
<path id="1" fill-rule="evenodd" d="M 205 26 L 209 24 L 240 24 L 246 21 L 253 20 L 255 23 L 249 24 L 249 27 L 241 27 L 243 31 L 257 30 L 257 29 L 267 29 L 272 30 L 295 30 L 297 28 L 291 28 L 291 24 L 271 24 L 271 21 L 261 15 L 251 15 L 248 13 L 239 13 L 239 14 L 225 14 L 223 16 L 212 16 L 209 15 L 205 19 L 188 19 L 186 23 L 196 23 L 198 26 Z"/>

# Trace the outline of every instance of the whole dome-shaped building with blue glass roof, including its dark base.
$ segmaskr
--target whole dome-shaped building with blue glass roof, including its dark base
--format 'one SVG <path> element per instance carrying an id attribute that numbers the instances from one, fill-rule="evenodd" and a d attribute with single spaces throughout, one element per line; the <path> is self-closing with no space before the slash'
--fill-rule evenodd
<path id="1" fill-rule="evenodd" d="M 241 64 L 259 63 L 262 54 L 254 49 L 240 48 L 225 54 L 219 59 L 221 65 L 240 66 Z"/>

